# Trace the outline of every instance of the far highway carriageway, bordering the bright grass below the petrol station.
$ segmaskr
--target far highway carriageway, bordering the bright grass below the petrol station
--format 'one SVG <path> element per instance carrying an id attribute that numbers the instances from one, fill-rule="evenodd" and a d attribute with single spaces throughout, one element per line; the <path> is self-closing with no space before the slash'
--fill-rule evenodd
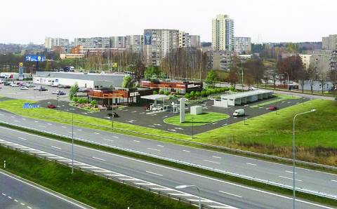
<path id="1" fill-rule="evenodd" d="M 0 112 L 0 119 L 18 126 L 35 128 L 68 137 L 72 135 L 72 127 L 61 123 L 29 119 L 8 112 Z M 279 163 L 88 128 L 74 127 L 74 137 L 292 186 L 292 167 Z M 296 187 L 337 196 L 337 175 L 296 168 Z"/>

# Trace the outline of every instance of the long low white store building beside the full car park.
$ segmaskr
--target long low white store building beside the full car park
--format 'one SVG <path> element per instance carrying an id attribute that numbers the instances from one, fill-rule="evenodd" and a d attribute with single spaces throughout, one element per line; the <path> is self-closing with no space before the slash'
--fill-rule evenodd
<path id="1" fill-rule="evenodd" d="M 37 72 L 33 75 L 33 83 L 51 85 L 53 83 L 64 86 L 80 88 L 107 88 L 110 86 L 121 86 L 124 74 L 95 74 L 79 72 Z"/>

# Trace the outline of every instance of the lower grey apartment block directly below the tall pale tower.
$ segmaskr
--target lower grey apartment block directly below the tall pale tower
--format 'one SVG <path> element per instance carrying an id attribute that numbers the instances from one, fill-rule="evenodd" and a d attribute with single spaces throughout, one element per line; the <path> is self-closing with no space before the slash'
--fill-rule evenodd
<path id="1" fill-rule="evenodd" d="M 230 71 L 232 60 L 235 53 L 231 50 L 212 50 L 206 52 L 208 56 L 209 69 L 220 69 L 224 71 Z"/>

